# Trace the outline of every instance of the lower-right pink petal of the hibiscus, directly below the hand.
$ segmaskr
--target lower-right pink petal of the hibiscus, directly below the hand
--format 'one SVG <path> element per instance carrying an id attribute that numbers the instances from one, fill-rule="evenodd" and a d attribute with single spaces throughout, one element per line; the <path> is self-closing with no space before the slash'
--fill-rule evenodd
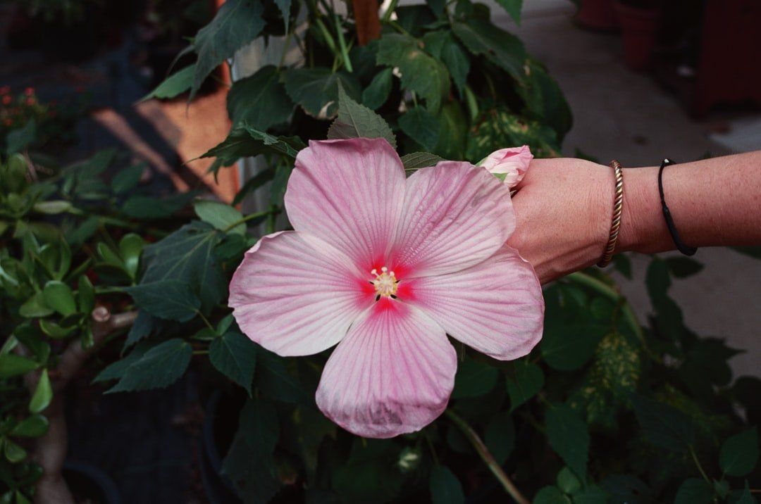
<path id="1" fill-rule="evenodd" d="M 542 338 L 539 279 L 509 246 L 466 270 L 418 278 L 412 290 L 414 303 L 452 338 L 495 359 L 523 357 Z"/>

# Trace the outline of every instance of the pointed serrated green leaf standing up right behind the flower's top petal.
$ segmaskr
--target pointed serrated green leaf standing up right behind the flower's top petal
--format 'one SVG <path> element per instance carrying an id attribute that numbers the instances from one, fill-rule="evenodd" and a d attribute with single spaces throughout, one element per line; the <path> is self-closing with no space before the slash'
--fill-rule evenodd
<path id="1" fill-rule="evenodd" d="M 396 148 L 396 137 L 382 117 L 352 100 L 341 86 L 338 96 L 338 117 L 330 125 L 328 138 L 385 138 Z"/>

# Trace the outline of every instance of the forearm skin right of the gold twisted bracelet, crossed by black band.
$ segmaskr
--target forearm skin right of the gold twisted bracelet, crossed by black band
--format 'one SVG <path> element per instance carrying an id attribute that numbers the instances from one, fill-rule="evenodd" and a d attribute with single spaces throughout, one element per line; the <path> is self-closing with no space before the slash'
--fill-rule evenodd
<path id="1" fill-rule="evenodd" d="M 761 244 L 761 151 L 668 166 L 664 195 L 689 246 Z M 661 211 L 658 166 L 624 170 L 619 252 L 675 249 Z"/>

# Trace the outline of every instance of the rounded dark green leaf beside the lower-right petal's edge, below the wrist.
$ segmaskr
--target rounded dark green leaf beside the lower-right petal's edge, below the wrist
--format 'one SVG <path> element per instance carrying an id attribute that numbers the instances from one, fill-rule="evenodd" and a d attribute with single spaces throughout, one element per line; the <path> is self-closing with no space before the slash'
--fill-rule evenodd
<path id="1" fill-rule="evenodd" d="M 588 321 L 546 324 L 540 344 L 542 357 L 552 369 L 579 369 L 590 360 L 606 331 L 605 325 Z"/>

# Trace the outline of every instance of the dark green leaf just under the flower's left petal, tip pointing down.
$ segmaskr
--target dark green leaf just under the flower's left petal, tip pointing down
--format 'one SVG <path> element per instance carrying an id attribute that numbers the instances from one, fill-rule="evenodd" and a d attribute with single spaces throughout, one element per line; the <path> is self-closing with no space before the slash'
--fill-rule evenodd
<path id="1" fill-rule="evenodd" d="M 225 332 L 209 346 L 209 360 L 224 376 L 245 388 L 251 395 L 256 345 L 236 331 Z"/>

